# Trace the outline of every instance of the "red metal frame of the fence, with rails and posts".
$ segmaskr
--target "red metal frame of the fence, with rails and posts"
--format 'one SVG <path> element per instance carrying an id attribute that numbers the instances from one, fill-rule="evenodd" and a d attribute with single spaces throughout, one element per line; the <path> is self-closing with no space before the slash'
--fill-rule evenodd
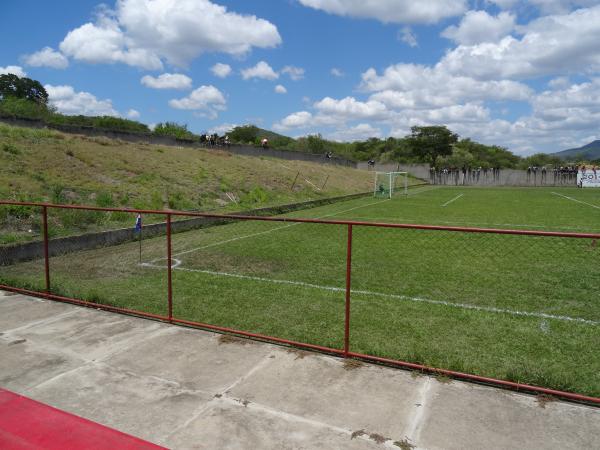
<path id="1" fill-rule="evenodd" d="M 547 232 L 547 231 L 529 231 L 529 230 L 505 230 L 505 229 L 493 229 L 493 228 L 468 228 L 468 227 L 448 227 L 448 226 L 437 226 L 437 225 L 415 225 L 415 224 L 393 224 L 393 223 L 378 223 L 378 222 L 363 222 L 363 221 L 346 221 L 346 220 L 321 220 L 321 219 L 303 219 L 303 218 L 289 218 L 289 217 L 256 217 L 256 216 L 242 216 L 242 215 L 223 215 L 223 214 L 210 214 L 210 213 L 197 213 L 197 212 L 184 212 L 184 211 L 161 211 L 161 210 L 145 210 L 145 209 L 128 209 L 128 208 L 102 208 L 92 206 L 79 206 L 79 205 L 58 205 L 51 203 L 38 203 L 38 202 L 14 202 L 14 201 L 0 201 L 0 206 L 27 206 L 37 207 L 41 210 L 41 233 L 43 237 L 43 259 L 44 259 L 44 275 L 45 275 L 45 289 L 25 289 L 18 286 L 10 286 L 0 284 L 0 289 L 18 292 L 26 295 L 42 297 L 50 300 L 56 300 L 61 302 L 72 303 L 81 306 L 94 307 L 107 311 L 113 311 L 117 313 L 130 314 L 140 317 L 146 317 L 150 319 L 157 319 L 173 324 L 180 324 L 192 327 L 198 327 L 202 329 L 214 330 L 218 332 L 233 333 L 240 336 L 245 336 L 253 339 L 260 339 L 267 342 L 274 342 L 279 344 L 290 345 L 294 347 L 316 350 L 320 352 L 326 352 L 346 358 L 359 358 L 366 361 L 383 363 L 386 365 L 407 368 L 411 370 L 418 370 L 421 372 L 427 372 L 437 375 L 449 376 L 457 379 L 469 380 L 478 383 L 485 383 L 505 388 L 514 389 L 517 391 L 524 391 L 529 393 L 546 394 L 563 399 L 572 401 L 585 402 L 595 405 L 600 405 L 600 398 L 591 397 L 587 395 L 577 394 L 574 392 L 565 392 L 556 389 L 549 389 L 540 386 L 533 386 L 529 384 L 517 383 L 513 381 L 501 380 L 491 377 L 484 377 L 469 373 L 463 373 L 459 371 L 447 370 L 442 368 L 429 367 L 423 364 L 416 364 L 411 362 L 399 361 L 390 358 L 383 358 L 374 355 L 353 352 L 351 350 L 351 296 L 352 296 L 352 256 L 353 256 L 353 228 L 354 227 L 376 227 L 376 228 L 388 228 L 388 229 L 410 229 L 410 230 L 429 230 L 429 231 L 445 231 L 454 233 L 474 233 L 474 234 L 495 234 L 495 235 L 519 235 L 519 236 L 537 236 L 537 237 L 557 237 L 557 238 L 568 238 L 568 239 L 591 239 L 594 242 L 600 240 L 600 234 L 592 233 L 570 233 L 570 232 Z M 166 260 L 167 260 L 167 314 L 154 314 L 147 311 L 141 311 L 136 309 L 122 308 L 112 305 L 106 305 L 98 302 L 88 301 L 85 299 L 78 299 L 68 296 L 61 296 L 52 293 L 51 285 L 51 264 L 49 254 L 49 243 L 50 237 L 48 232 L 48 211 L 50 209 L 59 210 L 81 210 L 81 211 L 102 211 L 102 212 L 120 212 L 130 214 L 153 214 L 165 217 L 166 222 Z M 260 333 L 253 333 L 249 331 L 234 329 L 230 327 L 218 326 L 215 324 L 202 323 L 197 321 L 190 321 L 174 316 L 173 312 L 173 255 L 172 255 L 172 219 L 173 217 L 204 217 L 210 219 L 222 219 L 224 221 L 237 220 L 237 221 L 263 221 L 263 222 L 284 222 L 284 223 L 310 223 L 320 225 L 337 225 L 346 227 L 346 258 L 345 258 L 345 308 L 344 308 L 344 338 L 343 348 L 332 348 L 328 346 L 315 345 L 306 342 L 297 342 L 294 340 L 284 339 L 277 336 L 269 336 Z"/>

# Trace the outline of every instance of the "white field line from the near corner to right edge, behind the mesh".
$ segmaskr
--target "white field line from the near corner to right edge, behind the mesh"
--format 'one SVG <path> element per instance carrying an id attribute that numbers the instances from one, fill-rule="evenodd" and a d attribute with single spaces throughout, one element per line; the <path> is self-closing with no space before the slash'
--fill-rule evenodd
<path id="1" fill-rule="evenodd" d="M 166 266 L 157 266 L 157 265 L 154 265 L 151 263 L 142 263 L 141 265 L 143 267 L 150 267 L 153 269 L 165 269 L 166 268 Z M 212 270 L 187 269 L 185 267 L 174 267 L 174 269 L 181 270 L 183 272 L 203 273 L 206 275 L 238 278 L 241 280 L 260 281 L 263 283 L 301 286 L 301 287 L 305 287 L 305 288 L 319 289 L 319 290 L 330 291 L 330 292 L 346 292 L 345 288 L 340 288 L 340 287 L 335 287 L 335 286 L 320 286 L 318 284 L 305 283 L 303 281 L 277 280 L 277 279 L 270 279 L 270 278 L 254 277 L 254 276 L 250 276 L 250 275 L 240 275 L 240 274 L 236 274 L 236 273 L 217 272 L 217 271 L 212 271 Z M 521 317 L 537 317 L 540 319 L 561 320 L 561 321 L 565 321 L 565 322 L 583 323 L 586 325 L 600 325 L 600 322 L 598 322 L 598 321 L 582 319 L 580 317 L 557 316 L 557 315 L 553 315 L 553 314 L 546 314 L 546 313 L 540 313 L 540 312 L 516 311 L 516 310 L 512 310 L 512 309 L 495 308 L 493 306 L 477 306 L 477 305 L 470 305 L 468 303 L 454 303 L 454 302 L 447 302 L 444 300 L 431 300 L 431 299 L 420 298 L 420 297 L 408 297 L 406 295 L 385 294 L 383 292 L 372 292 L 372 291 L 363 291 L 363 290 L 354 290 L 354 289 L 350 290 L 350 292 L 352 294 L 356 294 L 356 295 L 366 295 L 366 296 L 382 297 L 382 298 L 393 298 L 396 300 L 404 300 L 404 301 L 410 301 L 410 302 L 415 302 L 415 303 L 427 303 L 430 305 L 447 306 L 450 308 L 457 308 L 457 309 L 469 309 L 469 310 L 474 310 L 474 311 L 483 311 L 483 312 L 490 312 L 490 313 L 497 313 L 497 314 L 508 314 L 508 315 L 512 315 L 512 316 L 521 316 Z"/>

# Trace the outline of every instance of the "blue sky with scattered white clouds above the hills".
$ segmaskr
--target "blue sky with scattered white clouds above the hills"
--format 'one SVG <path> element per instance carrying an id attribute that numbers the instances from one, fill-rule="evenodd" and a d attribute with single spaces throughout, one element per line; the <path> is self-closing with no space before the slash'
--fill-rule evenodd
<path id="1" fill-rule="evenodd" d="M 518 154 L 600 138 L 600 1 L 3 0 L 0 73 L 65 114 L 336 140 L 447 125 Z"/>

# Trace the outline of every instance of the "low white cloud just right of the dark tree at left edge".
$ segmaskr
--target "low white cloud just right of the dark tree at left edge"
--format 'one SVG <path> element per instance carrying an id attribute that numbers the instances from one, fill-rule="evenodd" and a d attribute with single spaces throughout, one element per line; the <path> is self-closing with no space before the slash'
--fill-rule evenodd
<path id="1" fill-rule="evenodd" d="M 119 116 L 111 100 L 98 100 L 89 92 L 77 92 L 72 86 L 44 86 L 48 92 L 49 103 L 58 112 L 67 115 Z"/>

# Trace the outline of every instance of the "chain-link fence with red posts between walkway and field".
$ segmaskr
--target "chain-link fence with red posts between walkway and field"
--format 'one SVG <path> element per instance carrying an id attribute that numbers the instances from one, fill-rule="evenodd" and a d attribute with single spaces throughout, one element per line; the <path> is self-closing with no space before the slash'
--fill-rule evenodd
<path id="1" fill-rule="evenodd" d="M 0 226 L 0 287 L 600 401 L 600 235 L 6 202 Z"/>

